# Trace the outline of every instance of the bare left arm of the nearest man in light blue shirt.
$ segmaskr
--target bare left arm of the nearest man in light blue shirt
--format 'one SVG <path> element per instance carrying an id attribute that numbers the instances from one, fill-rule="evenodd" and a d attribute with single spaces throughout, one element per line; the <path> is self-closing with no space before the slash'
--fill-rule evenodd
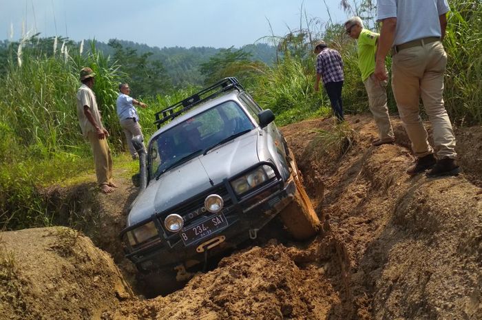
<path id="1" fill-rule="evenodd" d="M 388 79 L 385 69 L 385 58 L 390 47 L 392 47 L 395 39 L 395 30 L 397 29 L 397 18 L 387 18 L 382 21 L 380 36 L 378 41 L 377 56 L 375 58 L 375 77 L 379 81 Z"/>

